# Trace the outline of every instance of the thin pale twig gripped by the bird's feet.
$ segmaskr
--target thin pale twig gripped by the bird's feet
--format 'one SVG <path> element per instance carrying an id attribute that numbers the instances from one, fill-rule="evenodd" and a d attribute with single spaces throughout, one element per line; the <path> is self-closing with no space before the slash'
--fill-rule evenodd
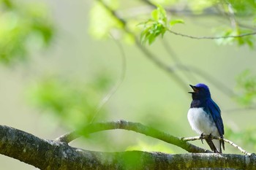
<path id="1" fill-rule="evenodd" d="M 194 137 L 187 137 L 187 138 L 181 138 L 183 141 L 195 141 L 195 140 L 200 140 L 200 139 L 208 139 L 209 137 L 211 139 L 217 139 L 217 140 L 223 140 L 224 142 L 230 144 L 233 147 L 236 147 L 238 150 L 240 150 L 242 153 L 244 153 L 245 155 L 252 155 L 252 153 L 247 152 L 246 150 L 242 149 L 241 147 L 239 147 L 237 144 L 235 144 L 234 142 L 221 138 L 219 136 L 208 136 L 208 135 L 203 135 L 203 136 L 194 136 Z"/>

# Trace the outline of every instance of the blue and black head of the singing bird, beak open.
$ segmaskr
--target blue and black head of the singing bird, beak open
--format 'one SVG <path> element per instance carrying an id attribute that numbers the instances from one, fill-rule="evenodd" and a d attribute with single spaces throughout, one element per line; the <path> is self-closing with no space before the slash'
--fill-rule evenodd
<path id="1" fill-rule="evenodd" d="M 189 92 L 192 93 L 193 99 L 211 98 L 211 93 L 207 85 L 198 83 L 197 85 L 190 85 L 190 87 L 194 90 Z"/>

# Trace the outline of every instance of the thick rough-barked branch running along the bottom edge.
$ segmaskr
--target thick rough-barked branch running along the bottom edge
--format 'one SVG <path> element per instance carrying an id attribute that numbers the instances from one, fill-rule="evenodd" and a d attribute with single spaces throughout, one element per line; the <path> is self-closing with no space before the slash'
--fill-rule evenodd
<path id="1" fill-rule="evenodd" d="M 162 152 L 94 152 L 70 147 L 65 142 L 39 139 L 0 125 L 0 153 L 39 169 L 256 169 L 256 156 Z"/>

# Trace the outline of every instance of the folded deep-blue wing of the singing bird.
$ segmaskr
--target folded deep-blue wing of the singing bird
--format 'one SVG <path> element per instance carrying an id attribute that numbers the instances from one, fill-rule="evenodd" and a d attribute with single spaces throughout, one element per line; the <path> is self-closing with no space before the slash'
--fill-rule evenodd
<path id="1" fill-rule="evenodd" d="M 222 116 L 220 114 L 220 109 L 218 105 L 210 98 L 206 101 L 206 105 L 208 107 L 209 112 L 211 112 L 211 116 L 214 119 L 215 124 L 217 125 L 219 135 L 224 135 L 224 125 L 222 122 Z"/>

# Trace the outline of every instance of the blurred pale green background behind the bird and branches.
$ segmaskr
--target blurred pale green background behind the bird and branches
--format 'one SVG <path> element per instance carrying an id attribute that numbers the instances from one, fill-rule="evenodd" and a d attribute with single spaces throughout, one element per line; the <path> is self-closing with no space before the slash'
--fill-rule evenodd
<path id="1" fill-rule="evenodd" d="M 56 139 L 91 122 L 123 119 L 150 125 L 173 136 L 197 136 L 187 120 L 192 101 L 187 92 L 191 90 L 189 84 L 204 82 L 222 109 L 225 138 L 248 152 L 255 152 L 256 53 L 253 39 L 190 39 L 166 32 L 151 45 L 136 45 L 134 36 L 139 38 L 143 29 L 138 25 L 151 18 L 154 9 L 146 2 L 103 1 L 116 10 L 116 15 L 127 20 L 124 26 L 113 19 L 113 15 L 109 17 L 108 10 L 106 15 L 100 1 L 2 0 L 1 125 L 43 139 Z M 255 30 L 251 22 L 255 14 L 249 9 L 246 14 L 237 14 L 237 26 L 233 28 L 232 18 L 219 15 L 218 7 L 211 8 L 217 6 L 214 1 L 210 4 L 154 2 L 170 9 L 167 13 L 170 20 L 184 20 L 184 24 L 172 27 L 179 33 L 228 36 L 233 35 L 230 29 L 235 29 L 236 33 L 238 28 L 241 33 Z M 236 7 L 233 4 L 233 8 Z M 238 9 L 235 11 L 239 12 Z M 230 12 L 223 7 L 222 12 L 225 10 Z M 244 23 L 240 24 L 240 20 Z M 126 33 L 125 28 L 132 34 Z M 148 59 L 141 47 L 146 47 L 173 72 L 166 72 Z M 113 93 L 116 85 L 118 88 Z M 111 97 L 97 112 L 108 95 Z M 192 144 L 208 148 L 201 142 Z M 123 130 L 90 134 L 71 145 L 99 151 L 186 152 Z M 240 153 L 229 144 L 224 152 Z M 34 169 L 4 155 L 0 155 L 0 164 L 1 169 Z"/>

